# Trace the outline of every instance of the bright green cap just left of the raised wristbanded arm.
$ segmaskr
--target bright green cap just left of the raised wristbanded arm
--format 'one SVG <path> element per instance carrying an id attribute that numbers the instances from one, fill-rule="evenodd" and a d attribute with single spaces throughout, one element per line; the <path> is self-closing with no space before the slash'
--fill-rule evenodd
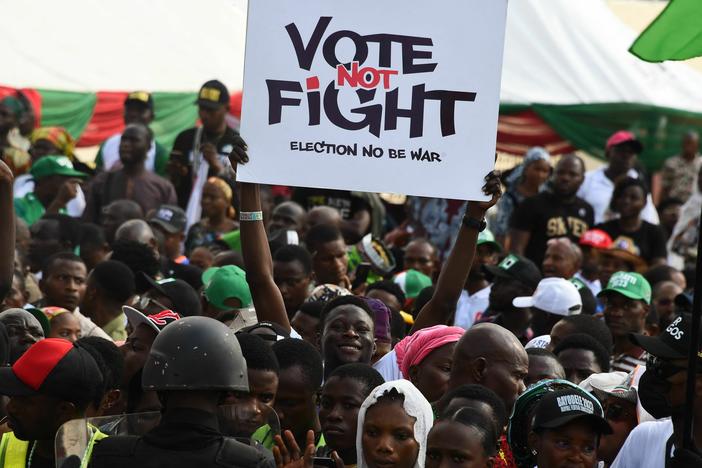
<path id="1" fill-rule="evenodd" d="M 238 299 L 241 308 L 251 305 L 251 291 L 246 282 L 246 272 L 235 265 L 212 267 L 202 274 L 205 285 L 205 297 L 210 304 L 222 310 L 230 310 L 231 306 L 224 303 L 227 299 Z"/>

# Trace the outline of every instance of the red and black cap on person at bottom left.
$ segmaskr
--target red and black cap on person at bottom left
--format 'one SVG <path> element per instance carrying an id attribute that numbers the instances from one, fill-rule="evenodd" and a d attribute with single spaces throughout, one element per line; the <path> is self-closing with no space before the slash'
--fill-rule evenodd
<path id="1" fill-rule="evenodd" d="M 90 401 L 102 381 L 90 352 L 58 338 L 33 344 L 12 367 L 0 368 L 0 394 L 49 395 L 69 401 Z"/>

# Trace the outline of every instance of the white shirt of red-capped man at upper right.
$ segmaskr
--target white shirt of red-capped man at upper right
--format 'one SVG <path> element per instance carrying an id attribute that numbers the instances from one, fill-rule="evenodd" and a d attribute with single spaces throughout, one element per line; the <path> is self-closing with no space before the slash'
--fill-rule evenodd
<path id="1" fill-rule="evenodd" d="M 614 182 L 605 175 L 605 169 L 607 169 L 607 166 L 586 172 L 585 181 L 578 190 L 578 196 L 592 205 L 592 209 L 595 211 L 595 224 L 600 224 L 616 217 L 609 211 L 609 202 L 612 199 L 612 192 L 614 192 Z M 627 175 L 634 179 L 639 178 L 639 174 L 633 169 Z M 651 194 L 648 195 L 646 206 L 641 211 L 641 219 L 653 224 L 660 223 L 656 207 L 653 206 Z"/>

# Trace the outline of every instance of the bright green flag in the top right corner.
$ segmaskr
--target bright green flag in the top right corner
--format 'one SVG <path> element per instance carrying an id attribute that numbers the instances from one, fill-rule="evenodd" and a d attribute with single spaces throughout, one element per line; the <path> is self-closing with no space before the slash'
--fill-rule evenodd
<path id="1" fill-rule="evenodd" d="M 647 62 L 702 56 L 702 0 L 671 0 L 629 52 Z"/>

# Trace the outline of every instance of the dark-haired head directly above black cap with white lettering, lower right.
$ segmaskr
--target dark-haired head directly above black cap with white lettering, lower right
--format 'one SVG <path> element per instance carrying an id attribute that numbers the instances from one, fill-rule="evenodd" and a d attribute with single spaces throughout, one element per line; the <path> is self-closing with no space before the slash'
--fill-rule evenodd
<path id="1" fill-rule="evenodd" d="M 553 350 L 565 370 L 566 380 L 578 385 L 592 374 L 609 372 L 609 352 L 584 333 L 570 335 Z"/>

